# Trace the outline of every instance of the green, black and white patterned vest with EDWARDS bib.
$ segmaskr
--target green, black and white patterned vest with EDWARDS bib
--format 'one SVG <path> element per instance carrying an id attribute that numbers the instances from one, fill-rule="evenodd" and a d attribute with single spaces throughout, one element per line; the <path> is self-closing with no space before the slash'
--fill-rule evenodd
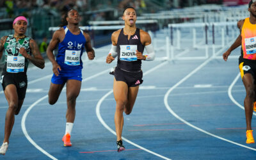
<path id="1" fill-rule="evenodd" d="M 24 47 L 27 53 L 31 55 L 31 48 L 29 46 L 30 39 L 30 37 L 25 36 L 24 38 L 21 38 L 18 41 L 16 41 L 13 35 L 8 35 L 4 43 L 5 64 L 3 74 L 26 74 L 28 70 L 29 60 L 19 53 L 19 49 L 21 47 Z"/>

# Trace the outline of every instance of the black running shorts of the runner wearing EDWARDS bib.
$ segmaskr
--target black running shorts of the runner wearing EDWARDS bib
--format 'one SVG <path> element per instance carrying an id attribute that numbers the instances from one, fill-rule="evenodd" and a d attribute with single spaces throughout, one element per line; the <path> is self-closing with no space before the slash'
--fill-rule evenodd
<path id="1" fill-rule="evenodd" d="M 3 90 L 5 90 L 6 86 L 8 86 L 9 84 L 14 84 L 17 88 L 19 100 L 25 99 L 26 90 L 28 87 L 28 79 L 26 75 L 1 75 L 0 82 L 2 83 Z"/>

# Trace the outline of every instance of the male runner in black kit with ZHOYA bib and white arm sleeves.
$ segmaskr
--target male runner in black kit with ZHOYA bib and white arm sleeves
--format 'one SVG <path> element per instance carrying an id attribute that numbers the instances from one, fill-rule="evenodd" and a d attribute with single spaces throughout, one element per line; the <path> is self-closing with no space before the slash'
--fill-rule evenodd
<path id="1" fill-rule="evenodd" d="M 150 35 L 136 28 L 136 10 L 132 7 L 125 8 L 122 18 L 125 27 L 112 34 L 112 47 L 106 58 L 106 63 L 111 63 L 118 56 L 113 84 L 116 100 L 115 127 L 118 152 L 125 149 L 122 143 L 123 113 L 129 115 L 132 112 L 139 86 L 143 82 L 141 60 L 150 61 L 155 58 Z M 144 48 L 147 50 L 146 55 L 142 54 Z"/>

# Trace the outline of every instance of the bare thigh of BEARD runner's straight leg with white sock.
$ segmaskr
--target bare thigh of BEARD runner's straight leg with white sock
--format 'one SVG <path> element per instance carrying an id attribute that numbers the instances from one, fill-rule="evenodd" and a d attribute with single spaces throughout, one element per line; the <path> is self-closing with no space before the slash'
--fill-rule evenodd
<path id="1" fill-rule="evenodd" d="M 68 79 L 67 81 L 67 97 L 77 97 L 81 90 L 81 81 L 76 79 Z"/>

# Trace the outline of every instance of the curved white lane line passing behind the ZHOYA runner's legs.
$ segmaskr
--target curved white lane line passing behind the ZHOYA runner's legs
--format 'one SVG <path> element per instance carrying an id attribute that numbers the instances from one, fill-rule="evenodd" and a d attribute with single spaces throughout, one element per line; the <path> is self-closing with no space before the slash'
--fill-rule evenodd
<path id="1" fill-rule="evenodd" d="M 156 67 L 148 70 L 147 72 L 145 72 L 145 74 L 143 74 L 144 76 L 149 74 L 150 72 L 153 72 L 154 70 L 156 70 L 157 68 L 160 68 L 162 67 L 163 65 L 166 65 L 168 63 L 168 61 L 165 61 L 164 63 L 161 63 L 160 65 L 157 65 Z M 111 129 L 105 122 L 104 120 L 102 119 L 101 115 L 100 115 L 100 105 L 102 104 L 102 102 L 104 101 L 104 99 L 106 99 L 106 97 L 108 97 L 111 93 L 113 93 L 113 90 L 109 91 L 108 93 L 106 93 L 106 95 L 104 95 L 100 100 L 99 102 L 97 103 L 97 106 L 96 106 L 96 115 L 97 115 L 97 118 L 99 119 L 100 123 L 106 128 L 108 129 L 108 131 L 110 131 L 111 133 L 115 134 L 116 135 L 116 132 L 113 131 L 113 129 Z M 160 154 L 157 154 L 155 152 L 152 152 L 151 150 L 148 150 L 147 148 L 144 148 L 144 147 L 141 147 L 140 145 L 137 145 L 136 143 L 133 143 L 132 141 L 122 137 L 122 140 L 126 141 L 127 143 L 130 143 L 131 145 L 134 145 L 135 147 L 138 147 L 138 148 L 141 148 L 141 150 L 145 150 L 146 152 L 150 153 L 150 154 L 154 154 L 155 156 L 157 157 L 161 157 L 163 159 L 169 159 L 168 157 L 164 157 L 164 156 L 161 156 Z"/>

